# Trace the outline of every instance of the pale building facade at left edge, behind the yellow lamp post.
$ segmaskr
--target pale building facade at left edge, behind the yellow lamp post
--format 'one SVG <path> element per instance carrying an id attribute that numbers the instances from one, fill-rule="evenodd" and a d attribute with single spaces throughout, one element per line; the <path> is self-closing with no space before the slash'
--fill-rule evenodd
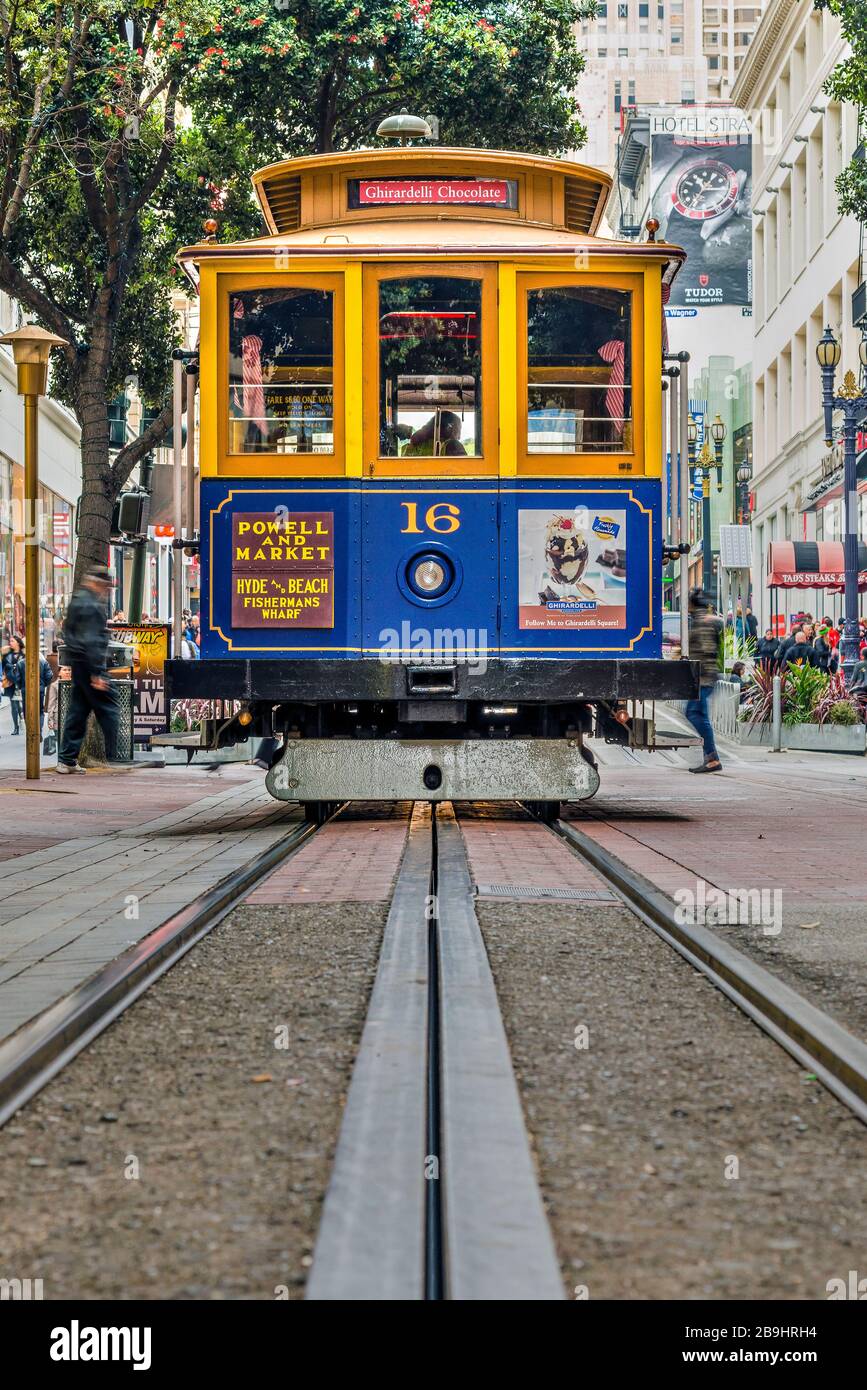
<path id="1" fill-rule="evenodd" d="M 0 332 L 22 322 L 0 293 Z M 39 617 L 40 645 L 51 649 L 72 592 L 75 505 L 81 492 L 81 432 L 75 416 L 39 402 Z M 24 632 L 24 402 L 11 350 L 0 346 L 0 637 Z"/>

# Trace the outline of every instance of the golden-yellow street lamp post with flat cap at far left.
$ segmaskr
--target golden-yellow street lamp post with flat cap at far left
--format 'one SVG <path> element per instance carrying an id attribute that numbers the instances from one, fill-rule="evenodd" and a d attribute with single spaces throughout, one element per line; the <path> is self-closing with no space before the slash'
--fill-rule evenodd
<path id="1" fill-rule="evenodd" d="M 18 368 L 18 395 L 24 396 L 24 648 L 26 726 L 26 777 L 39 780 L 39 398 L 49 381 L 51 348 L 65 346 L 64 338 L 25 324 L 4 334 Z"/>

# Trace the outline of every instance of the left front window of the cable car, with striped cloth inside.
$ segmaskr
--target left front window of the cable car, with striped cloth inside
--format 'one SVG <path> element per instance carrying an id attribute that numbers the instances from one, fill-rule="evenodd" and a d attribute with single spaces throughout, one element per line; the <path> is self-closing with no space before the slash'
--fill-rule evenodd
<path id="1" fill-rule="evenodd" d="M 333 453 L 333 295 L 229 296 L 229 453 Z"/>

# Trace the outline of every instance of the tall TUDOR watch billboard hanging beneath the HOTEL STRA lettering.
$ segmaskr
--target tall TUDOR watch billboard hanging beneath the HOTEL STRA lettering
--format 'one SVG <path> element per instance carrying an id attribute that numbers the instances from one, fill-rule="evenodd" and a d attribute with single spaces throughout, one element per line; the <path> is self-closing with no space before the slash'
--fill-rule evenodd
<path id="1" fill-rule="evenodd" d="M 686 264 L 671 288 L 677 309 L 753 302 L 750 126 L 735 107 L 668 107 L 650 114 L 650 207 L 660 238 Z"/>

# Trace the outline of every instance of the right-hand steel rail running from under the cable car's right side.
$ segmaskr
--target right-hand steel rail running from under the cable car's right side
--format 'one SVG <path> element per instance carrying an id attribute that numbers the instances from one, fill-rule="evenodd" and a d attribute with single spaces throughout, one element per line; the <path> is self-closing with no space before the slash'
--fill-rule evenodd
<path id="1" fill-rule="evenodd" d="M 575 826 L 546 824 L 646 926 L 867 1123 L 866 1042 L 714 931 L 678 922 L 671 898 Z"/>

